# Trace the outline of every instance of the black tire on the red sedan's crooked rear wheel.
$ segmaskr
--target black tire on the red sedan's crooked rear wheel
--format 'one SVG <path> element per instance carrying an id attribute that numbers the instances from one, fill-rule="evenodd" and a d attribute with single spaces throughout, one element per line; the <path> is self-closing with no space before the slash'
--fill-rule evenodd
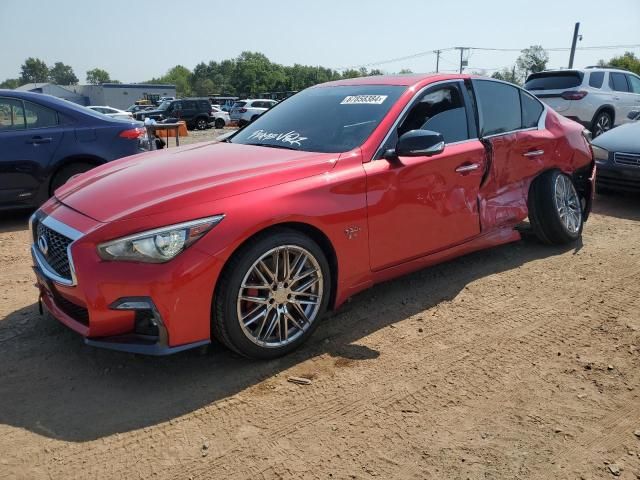
<path id="1" fill-rule="evenodd" d="M 568 180 L 568 182 L 567 182 Z M 575 200 L 571 201 L 572 212 L 577 212 L 577 219 L 573 217 L 574 222 L 569 221 L 569 226 L 561 218 L 561 208 L 567 211 L 566 205 L 558 207 L 560 200 L 556 199 L 556 188 L 558 182 L 567 186 L 569 196 L 574 195 Z M 566 214 L 565 214 L 566 218 Z M 536 236 L 543 243 L 549 245 L 562 245 L 575 242 L 582 235 L 582 227 L 584 226 L 584 215 L 582 212 L 582 200 L 577 193 L 571 178 L 558 170 L 545 172 L 536 178 L 529 190 L 529 221 Z M 577 223 L 577 225 L 576 225 Z"/>

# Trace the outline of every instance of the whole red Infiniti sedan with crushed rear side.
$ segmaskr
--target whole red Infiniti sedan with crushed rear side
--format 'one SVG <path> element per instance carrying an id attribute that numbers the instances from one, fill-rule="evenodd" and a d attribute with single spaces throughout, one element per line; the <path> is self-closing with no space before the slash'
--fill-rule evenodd
<path id="1" fill-rule="evenodd" d="M 520 238 L 580 237 L 582 127 L 465 75 L 304 90 L 224 141 L 84 173 L 31 219 L 41 302 L 90 345 L 255 358 L 376 282 Z"/>

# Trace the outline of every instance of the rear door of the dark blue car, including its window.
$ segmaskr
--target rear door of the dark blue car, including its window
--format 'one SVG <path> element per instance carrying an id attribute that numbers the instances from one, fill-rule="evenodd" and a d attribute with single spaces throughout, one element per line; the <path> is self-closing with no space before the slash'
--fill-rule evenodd
<path id="1" fill-rule="evenodd" d="M 63 136 L 55 110 L 0 97 L 0 203 L 37 196 Z"/>

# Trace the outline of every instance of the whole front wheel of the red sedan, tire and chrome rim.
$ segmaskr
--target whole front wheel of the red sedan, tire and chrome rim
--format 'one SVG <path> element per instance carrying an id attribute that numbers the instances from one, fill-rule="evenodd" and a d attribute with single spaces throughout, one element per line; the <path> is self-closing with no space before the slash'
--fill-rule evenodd
<path id="1" fill-rule="evenodd" d="M 317 328 L 331 272 L 318 244 L 281 229 L 237 252 L 218 285 L 213 335 L 242 355 L 268 359 L 294 350 Z"/>

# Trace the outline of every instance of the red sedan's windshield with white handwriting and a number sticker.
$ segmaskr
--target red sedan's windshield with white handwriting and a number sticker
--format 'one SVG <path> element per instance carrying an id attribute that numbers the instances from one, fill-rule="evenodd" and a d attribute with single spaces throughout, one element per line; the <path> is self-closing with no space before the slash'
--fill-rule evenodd
<path id="1" fill-rule="evenodd" d="M 305 152 L 347 152 L 362 145 L 406 88 L 308 88 L 265 112 L 229 141 Z"/>

